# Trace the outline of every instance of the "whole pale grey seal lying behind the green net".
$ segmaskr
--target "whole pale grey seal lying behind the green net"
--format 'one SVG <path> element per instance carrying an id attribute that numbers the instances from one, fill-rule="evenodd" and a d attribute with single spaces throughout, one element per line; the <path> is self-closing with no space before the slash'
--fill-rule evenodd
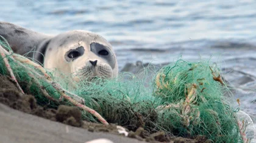
<path id="1" fill-rule="evenodd" d="M 96 33 L 72 30 L 46 35 L 0 21 L 0 35 L 16 54 L 40 63 L 46 69 L 72 74 L 76 80 L 118 75 L 112 45 Z"/>

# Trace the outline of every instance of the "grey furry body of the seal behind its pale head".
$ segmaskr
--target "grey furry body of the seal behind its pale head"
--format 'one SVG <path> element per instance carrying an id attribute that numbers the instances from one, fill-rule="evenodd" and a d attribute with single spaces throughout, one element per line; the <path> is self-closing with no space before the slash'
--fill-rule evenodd
<path id="1" fill-rule="evenodd" d="M 0 35 L 8 41 L 13 52 L 20 55 L 27 54 L 27 57 L 34 57 L 40 63 L 43 63 L 43 58 L 38 52 L 46 51 L 46 44 L 52 38 L 50 35 L 37 33 L 5 22 L 0 22 Z"/>

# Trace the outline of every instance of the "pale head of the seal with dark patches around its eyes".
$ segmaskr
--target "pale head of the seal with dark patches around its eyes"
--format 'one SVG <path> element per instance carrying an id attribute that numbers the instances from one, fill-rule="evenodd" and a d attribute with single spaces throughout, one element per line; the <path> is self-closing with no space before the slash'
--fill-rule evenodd
<path id="1" fill-rule="evenodd" d="M 112 46 L 95 33 L 76 30 L 52 38 L 44 55 L 44 68 L 73 74 L 74 80 L 112 78 L 118 65 Z"/>

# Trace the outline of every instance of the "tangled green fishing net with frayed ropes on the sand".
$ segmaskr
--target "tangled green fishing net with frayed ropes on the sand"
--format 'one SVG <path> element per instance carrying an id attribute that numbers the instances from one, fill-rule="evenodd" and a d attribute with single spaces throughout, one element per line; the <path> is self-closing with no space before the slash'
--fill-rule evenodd
<path id="1" fill-rule="evenodd" d="M 2 50 L 0 73 L 10 75 L 7 59 L 22 91 L 34 95 L 39 105 L 79 106 L 84 120 L 133 131 L 143 127 L 151 133 L 202 135 L 213 142 L 249 141 L 243 134 L 247 124 L 236 119 L 238 109 L 230 106 L 235 100 L 219 67 L 208 60 L 179 59 L 160 69 L 144 68 L 142 74 L 123 72 L 115 79 L 73 82 L 71 75 L 41 69 L 13 54 L 4 39 L 0 44 L 9 51 Z"/>

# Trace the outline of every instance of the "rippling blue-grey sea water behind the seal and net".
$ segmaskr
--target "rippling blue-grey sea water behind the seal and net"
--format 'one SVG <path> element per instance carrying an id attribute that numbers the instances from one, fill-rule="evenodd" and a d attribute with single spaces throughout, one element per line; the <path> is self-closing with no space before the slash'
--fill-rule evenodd
<path id="1" fill-rule="evenodd" d="M 112 43 L 126 63 L 163 64 L 182 56 L 216 62 L 241 108 L 256 115 L 256 1 L 1 1 L 0 21 L 37 32 L 82 29 Z"/>

